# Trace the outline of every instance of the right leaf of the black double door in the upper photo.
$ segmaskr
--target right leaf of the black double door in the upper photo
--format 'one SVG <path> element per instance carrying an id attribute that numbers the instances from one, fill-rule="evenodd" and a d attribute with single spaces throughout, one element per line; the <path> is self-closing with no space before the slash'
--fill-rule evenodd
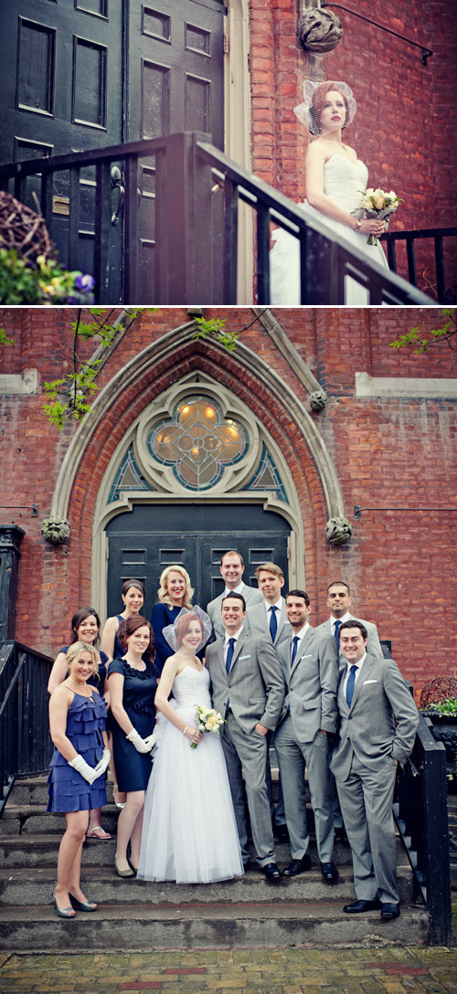
<path id="1" fill-rule="evenodd" d="M 226 12 L 220 0 L 155 0 L 141 9 L 132 5 L 127 141 L 204 131 L 224 148 Z M 139 299 L 145 303 L 156 300 L 153 159 L 140 162 L 139 171 Z"/>

